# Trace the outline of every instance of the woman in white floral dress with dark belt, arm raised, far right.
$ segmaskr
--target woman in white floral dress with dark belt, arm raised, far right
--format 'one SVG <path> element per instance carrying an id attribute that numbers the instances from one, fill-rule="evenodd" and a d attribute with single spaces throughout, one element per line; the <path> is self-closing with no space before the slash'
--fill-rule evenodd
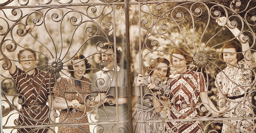
<path id="1" fill-rule="evenodd" d="M 218 18 L 216 22 L 220 26 L 226 26 L 238 40 L 244 37 L 243 34 L 240 34 L 238 28 L 232 29 L 226 25 L 226 22 L 230 25 L 230 21 L 226 20 L 226 17 Z M 241 42 L 241 44 L 242 50 L 236 42 L 226 42 L 222 53 L 220 53 L 220 60 L 223 60 L 228 66 L 216 76 L 215 85 L 218 89 L 218 102 L 219 105 L 221 105 L 220 103 L 226 103 L 220 109 L 225 106 L 232 109 L 229 111 L 230 117 L 254 117 L 251 104 L 252 95 L 247 97 L 251 89 L 252 72 L 246 70 L 254 66 L 254 61 L 244 59 L 244 56 L 249 59 L 248 55 L 251 54 L 249 43 Z M 247 50 L 249 51 L 246 52 Z M 248 76 L 245 77 L 244 75 Z M 244 99 L 244 97 L 246 98 Z M 229 130 L 233 130 L 230 133 L 234 133 L 234 131 L 248 133 L 254 130 L 254 120 L 228 120 L 227 122 L 228 125 L 232 125 L 232 129 L 224 123 L 222 133 L 227 133 Z"/>

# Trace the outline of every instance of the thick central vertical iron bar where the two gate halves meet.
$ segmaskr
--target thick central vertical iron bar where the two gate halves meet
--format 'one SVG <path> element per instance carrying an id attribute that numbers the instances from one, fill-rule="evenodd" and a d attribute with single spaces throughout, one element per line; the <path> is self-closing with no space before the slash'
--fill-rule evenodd
<path id="1" fill-rule="evenodd" d="M 127 69 L 127 98 L 128 98 L 128 116 L 129 116 L 129 129 L 130 133 L 132 133 L 132 114 L 131 114 L 131 89 L 130 89 L 130 30 L 129 30 L 129 0 L 124 0 L 124 14 L 125 14 L 125 41 L 126 41 L 126 69 Z M 128 55 L 128 56 L 127 56 Z"/>

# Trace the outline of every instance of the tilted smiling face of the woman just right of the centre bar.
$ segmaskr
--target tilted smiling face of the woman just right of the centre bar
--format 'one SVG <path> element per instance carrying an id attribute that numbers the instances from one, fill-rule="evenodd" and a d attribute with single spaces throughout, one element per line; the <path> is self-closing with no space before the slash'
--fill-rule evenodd
<path id="1" fill-rule="evenodd" d="M 167 67 L 168 66 L 165 63 L 162 63 L 162 62 L 158 63 L 158 65 L 156 66 L 156 69 L 154 69 L 151 75 L 151 80 L 154 81 L 157 77 L 164 80 L 167 74 Z"/>

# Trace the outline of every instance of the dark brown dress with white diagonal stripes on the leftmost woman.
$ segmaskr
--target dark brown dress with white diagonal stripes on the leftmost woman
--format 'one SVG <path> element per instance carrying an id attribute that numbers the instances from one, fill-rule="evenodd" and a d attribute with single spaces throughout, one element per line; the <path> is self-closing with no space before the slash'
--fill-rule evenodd
<path id="1" fill-rule="evenodd" d="M 26 103 L 22 105 L 21 109 L 18 110 L 20 112 L 18 125 L 45 125 L 46 123 L 50 123 L 48 118 L 49 106 L 46 105 L 48 95 L 50 95 L 54 86 L 54 80 L 52 77 L 50 78 L 50 73 L 35 69 L 34 74 L 28 75 L 16 66 L 14 73 L 10 75 L 16 83 L 18 94 L 20 94 L 18 96 L 19 99 L 22 99 L 26 103 L 36 103 L 34 106 L 27 106 L 25 105 Z M 21 95 L 26 97 L 26 101 Z M 28 133 L 33 129 L 23 128 L 20 131 L 22 133 Z M 20 131 L 18 130 L 18 133 Z M 48 129 L 36 129 L 33 133 L 47 133 L 47 131 Z"/>

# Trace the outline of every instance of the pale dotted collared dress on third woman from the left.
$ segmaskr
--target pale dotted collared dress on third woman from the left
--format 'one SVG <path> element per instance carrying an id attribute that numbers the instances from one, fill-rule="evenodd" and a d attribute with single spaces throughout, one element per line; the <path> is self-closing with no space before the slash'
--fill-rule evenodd
<path id="1" fill-rule="evenodd" d="M 110 87 L 116 86 L 116 76 L 117 76 L 117 84 L 118 87 L 127 86 L 127 71 L 121 67 L 117 67 L 117 75 L 114 74 L 114 69 L 110 71 L 106 71 L 106 68 L 103 69 L 104 71 L 98 71 L 93 73 L 92 75 L 92 87 L 91 91 L 99 91 L 108 89 Z M 104 80 L 102 80 L 104 79 Z M 103 82 L 102 82 L 103 81 Z M 94 96 L 98 95 L 98 93 L 94 93 Z M 128 105 L 109 105 L 108 103 L 104 103 L 100 107 L 98 107 L 97 111 L 98 116 L 97 122 L 109 122 L 109 121 L 116 121 L 116 107 L 118 107 L 118 117 L 119 121 L 126 121 L 122 124 L 101 124 L 97 125 L 97 133 L 102 131 L 101 133 L 128 133 L 128 120 L 129 115 Z"/>

